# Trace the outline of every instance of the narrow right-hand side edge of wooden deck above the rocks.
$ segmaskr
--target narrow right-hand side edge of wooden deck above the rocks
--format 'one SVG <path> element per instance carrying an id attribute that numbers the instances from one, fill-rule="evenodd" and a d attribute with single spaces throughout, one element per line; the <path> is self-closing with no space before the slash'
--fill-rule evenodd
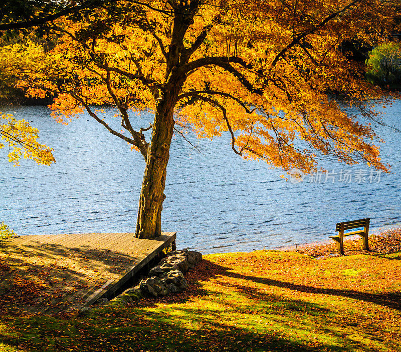
<path id="1" fill-rule="evenodd" d="M 170 232 L 171 233 L 171 232 Z M 149 253 L 146 258 L 144 258 L 141 262 L 136 263 L 128 269 L 128 272 L 120 277 L 118 280 L 109 280 L 98 290 L 93 292 L 83 304 L 84 307 L 88 307 L 95 303 L 100 298 L 111 299 L 116 296 L 116 292 L 126 284 L 130 279 L 132 279 L 135 274 L 141 270 L 147 263 L 149 263 L 153 258 L 156 257 L 164 248 L 172 245 L 173 250 L 175 250 L 175 239 L 177 237 L 176 232 L 172 232 L 169 235 L 161 235 L 159 237 L 151 239 L 152 241 L 160 241 L 160 245 L 155 248 L 151 253 Z"/>

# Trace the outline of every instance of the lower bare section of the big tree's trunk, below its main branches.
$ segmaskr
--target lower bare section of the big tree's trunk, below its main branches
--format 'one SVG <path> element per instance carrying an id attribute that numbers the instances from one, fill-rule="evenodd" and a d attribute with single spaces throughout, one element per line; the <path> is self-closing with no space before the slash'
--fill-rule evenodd
<path id="1" fill-rule="evenodd" d="M 175 102 L 160 102 L 156 106 L 152 138 L 146 161 L 139 198 L 136 238 L 154 238 L 161 234 L 161 210 L 165 199 L 166 169 L 170 157 Z"/>

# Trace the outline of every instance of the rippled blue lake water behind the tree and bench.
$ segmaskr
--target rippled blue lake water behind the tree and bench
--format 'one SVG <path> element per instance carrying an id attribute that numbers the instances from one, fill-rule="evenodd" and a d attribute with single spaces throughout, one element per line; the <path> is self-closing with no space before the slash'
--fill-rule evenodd
<path id="1" fill-rule="evenodd" d="M 132 232 L 144 169 L 139 153 L 84 116 L 69 126 L 56 123 L 46 107 L 0 109 L 33 121 L 41 141 L 54 147 L 56 164 L 7 162 L 0 151 L 0 221 L 20 235 Z M 386 109 L 385 121 L 401 126 L 401 102 Z M 109 120 L 113 113 L 106 110 Z M 138 117 L 137 127 L 151 118 Z M 118 127 L 117 127 L 118 128 Z M 120 129 L 120 128 L 118 128 Z M 371 218 L 371 228 L 401 221 L 401 135 L 380 127 L 386 141 L 382 159 L 391 174 L 369 183 L 339 182 L 341 169 L 369 175 L 366 166 L 323 165 L 335 182 L 292 184 L 264 162 L 245 161 L 230 149 L 229 136 L 196 140 L 198 153 L 180 136 L 173 137 L 167 171 L 163 230 L 177 231 L 177 245 L 204 253 L 281 248 L 322 241 L 335 223 Z M 323 178 L 324 179 L 324 178 Z"/>

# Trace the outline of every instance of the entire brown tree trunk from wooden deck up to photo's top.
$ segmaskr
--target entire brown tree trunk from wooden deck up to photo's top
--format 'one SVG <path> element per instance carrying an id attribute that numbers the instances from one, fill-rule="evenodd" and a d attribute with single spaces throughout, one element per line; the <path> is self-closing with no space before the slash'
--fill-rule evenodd
<path id="1" fill-rule="evenodd" d="M 196 1 L 192 3 L 194 13 L 197 3 Z M 181 50 L 185 48 L 183 45 L 185 32 L 192 23 L 193 14 L 188 16 L 182 11 L 174 15 L 171 44 L 166 57 L 165 84 L 162 89 L 153 93 L 156 113 L 139 198 L 135 230 L 137 238 L 154 238 L 161 235 L 161 211 L 165 199 L 163 192 L 174 127 L 174 107 L 186 80 L 186 75 L 178 73 L 177 67 L 189 60 L 189 55 L 181 56 Z"/>

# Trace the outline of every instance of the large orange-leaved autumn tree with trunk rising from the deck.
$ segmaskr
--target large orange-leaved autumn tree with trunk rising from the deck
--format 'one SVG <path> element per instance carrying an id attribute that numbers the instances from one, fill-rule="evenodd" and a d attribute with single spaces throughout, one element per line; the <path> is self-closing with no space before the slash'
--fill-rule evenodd
<path id="1" fill-rule="evenodd" d="M 348 164 L 381 170 L 369 123 L 358 122 L 331 98 L 335 92 L 361 115 L 381 91 L 366 83 L 360 66 L 337 50 L 343 40 L 377 41 L 392 26 L 397 4 L 381 0 L 143 0 L 104 6 L 53 30 L 55 49 L 5 48 L 7 55 L 33 51 L 29 70 L 15 65 L 28 94 L 56 95 L 60 122 L 84 110 L 145 160 L 135 236 L 156 237 L 169 148 L 174 132 L 193 129 L 213 138 L 228 131 L 244 158 L 271 167 L 311 172 L 316 151 Z M 28 54 L 27 54 L 28 55 Z M 40 59 L 39 59 L 40 57 Z M 124 130 L 106 123 L 95 105 L 117 109 Z M 135 130 L 132 116 L 154 113 Z M 146 141 L 144 130 L 151 128 Z"/>

